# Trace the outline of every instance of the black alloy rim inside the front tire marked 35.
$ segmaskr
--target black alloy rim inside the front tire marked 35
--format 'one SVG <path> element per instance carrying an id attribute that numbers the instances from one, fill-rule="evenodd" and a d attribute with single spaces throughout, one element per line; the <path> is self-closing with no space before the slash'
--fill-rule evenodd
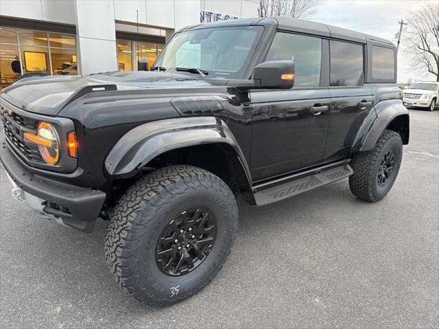
<path id="1" fill-rule="evenodd" d="M 176 215 L 156 243 L 156 263 L 168 276 L 183 276 L 196 269 L 215 243 L 216 220 L 205 208 L 193 207 Z"/>

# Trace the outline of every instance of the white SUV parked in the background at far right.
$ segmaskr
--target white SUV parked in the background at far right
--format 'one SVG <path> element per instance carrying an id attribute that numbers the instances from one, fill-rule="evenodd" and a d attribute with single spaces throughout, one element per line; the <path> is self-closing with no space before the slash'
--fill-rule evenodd
<path id="1" fill-rule="evenodd" d="M 429 108 L 432 111 L 439 99 L 439 82 L 417 82 L 403 90 L 403 93 L 405 106 Z"/>

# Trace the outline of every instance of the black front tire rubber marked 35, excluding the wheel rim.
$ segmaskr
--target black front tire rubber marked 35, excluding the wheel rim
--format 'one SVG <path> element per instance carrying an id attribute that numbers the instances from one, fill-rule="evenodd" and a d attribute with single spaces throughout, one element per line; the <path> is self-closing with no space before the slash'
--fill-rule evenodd
<path id="1" fill-rule="evenodd" d="M 171 217 L 190 206 L 213 212 L 218 226 L 215 243 L 193 271 L 168 276 L 156 263 L 156 242 Z M 144 304 L 167 306 L 211 282 L 230 254 L 237 225 L 235 196 L 226 183 L 197 167 L 165 167 L 130 186 L 115 206 L 106 232 L 106 261 L 131 297 Z"/>

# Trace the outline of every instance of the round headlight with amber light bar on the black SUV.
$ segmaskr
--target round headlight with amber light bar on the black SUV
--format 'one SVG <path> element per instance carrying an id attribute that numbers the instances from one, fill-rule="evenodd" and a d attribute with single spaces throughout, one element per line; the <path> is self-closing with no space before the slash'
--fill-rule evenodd
<path id="1" fill-rule="evenodd" d="M 25 132 L 25 139 L 38 145 L 41 156 L 48 164 L 57 164 L 60 159 L 60 140 L 55 128 L 48 122 L 40 121 L 36 134 Z"/>

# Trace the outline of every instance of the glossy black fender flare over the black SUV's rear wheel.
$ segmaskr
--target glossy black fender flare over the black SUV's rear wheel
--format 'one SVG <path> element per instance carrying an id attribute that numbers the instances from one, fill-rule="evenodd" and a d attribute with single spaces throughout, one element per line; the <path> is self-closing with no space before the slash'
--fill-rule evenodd
<path id="1" fill-rule="evenodd" d="M 375 104 L 376 119 L 366 119 L 360 128 L 352 152 L 369 151 L 377 143 L 379 136 L 386 129 L 391 129 L 401 135 L 404 145 L 409 143 L 410 118 L 407 108 L 401 99 L 388 99 Z M 366 132 L 366 134 L 364 134 Z"/>

